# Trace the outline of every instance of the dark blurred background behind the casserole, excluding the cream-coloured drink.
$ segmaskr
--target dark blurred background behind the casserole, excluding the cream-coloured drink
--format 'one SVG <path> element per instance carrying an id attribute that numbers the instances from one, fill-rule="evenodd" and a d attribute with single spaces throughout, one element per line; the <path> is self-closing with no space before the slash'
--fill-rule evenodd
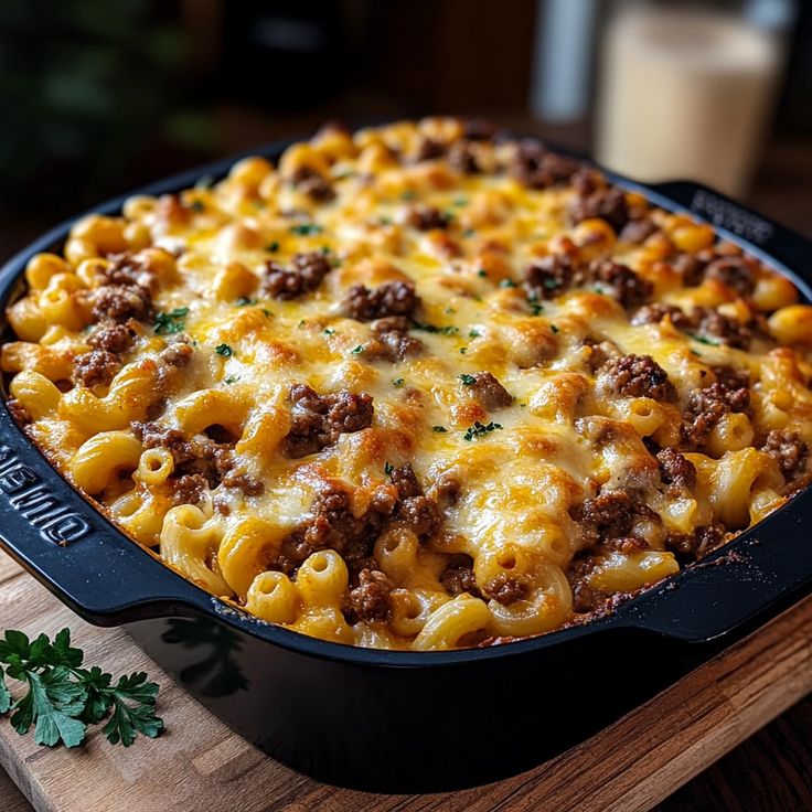
<path id="1" fill-rule="evenodd" d="M 783 2 L 749 1 L 763 8 Z M 0 253 L 8 256 L 107 196 L 307 135 L 331 118 L 356 125 L 487 116 L 588 152 L 612 6 L 2 0 Z M 751 195 L 757 206 L 808 229 L 810 6 L 794 3 L 800 15 L 788 32 L 789 70 L 770 105 L 778 116 L 763 122 L 771 136 Z M 548 104 L 551 93 L 557 107 Z"/>

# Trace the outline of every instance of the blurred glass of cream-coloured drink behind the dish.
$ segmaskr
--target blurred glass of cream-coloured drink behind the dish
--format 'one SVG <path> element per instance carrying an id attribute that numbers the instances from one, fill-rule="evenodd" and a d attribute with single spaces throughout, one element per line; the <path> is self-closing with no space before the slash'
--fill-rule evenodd
<path id="1" fill-rule="evenodd" d="M 772 113 L 779 42 L 735 14 L 632 6 L 610 23 L 598 159 L 643 181 L 746 192 Z"/>

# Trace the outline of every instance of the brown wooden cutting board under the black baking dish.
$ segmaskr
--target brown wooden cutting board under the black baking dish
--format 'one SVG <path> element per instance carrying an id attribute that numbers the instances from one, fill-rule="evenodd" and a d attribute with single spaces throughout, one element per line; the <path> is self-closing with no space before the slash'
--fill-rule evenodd
<path id="1" fill-rule="evenodd" d="M 64 626 L 88 663 L 114 673 L 143 670 L 161 684 L 167 733 L 129 749 L 111 747 L 98 733 L 82 749 L 47 749 L 0 720 L 0 765 L 41 812 L 635 812 L 651 809 L 812 691 L 810 598 L 535 770 L 463 792 L 382 795 L 329 787 L 268 758 L 177 686 L 122 631 L 79 620 L 0 553 L 0 630 L 53 634 Z"/>

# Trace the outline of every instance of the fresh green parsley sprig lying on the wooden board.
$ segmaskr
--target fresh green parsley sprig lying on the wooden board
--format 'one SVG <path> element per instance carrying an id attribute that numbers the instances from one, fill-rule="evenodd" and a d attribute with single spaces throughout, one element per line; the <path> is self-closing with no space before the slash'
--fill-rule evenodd
<path id="1" fill-rule="evenodd" d="M 33 727 L 34 741 L 47 747 L 77 747 L 87 726 L 105 719 L 101 733 L 110 744 L 125 747 L 139 733 L 154 738 L 163 730 L 154 712 L 158 685 L 147 682 L 147 674 L 125 675 L 114 685 L 111 674 L 96 665 L 83 669 L 83 660 L 84 652 L 71 645 L 68 629 L 53 641 L 46 634 L 31 641 L 21 631 L 7 631 L 0 640 L 0 715 L 11 712 L 19 734 Z M 28 686 L 17 701 L 7 676 Z"/>

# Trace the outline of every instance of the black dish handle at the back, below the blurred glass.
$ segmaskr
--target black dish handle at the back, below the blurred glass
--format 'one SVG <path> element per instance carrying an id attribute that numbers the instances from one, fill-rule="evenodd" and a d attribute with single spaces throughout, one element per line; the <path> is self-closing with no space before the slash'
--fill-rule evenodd
<path id="1" fill-rule="evenodd" d="M 746 241 L 748 252 L 752 252 L 754 245 L 760 248 L 766 255 L 762 258 L 778 260 L 784 266 L 783 270 L 800 279 L 808 298 L 812 299 L 809 287 L 812 284 L 812 241 L 694 181 L 667 181 L 648 189 L 712 223 L 726 232 L 726 236 Z"/>

